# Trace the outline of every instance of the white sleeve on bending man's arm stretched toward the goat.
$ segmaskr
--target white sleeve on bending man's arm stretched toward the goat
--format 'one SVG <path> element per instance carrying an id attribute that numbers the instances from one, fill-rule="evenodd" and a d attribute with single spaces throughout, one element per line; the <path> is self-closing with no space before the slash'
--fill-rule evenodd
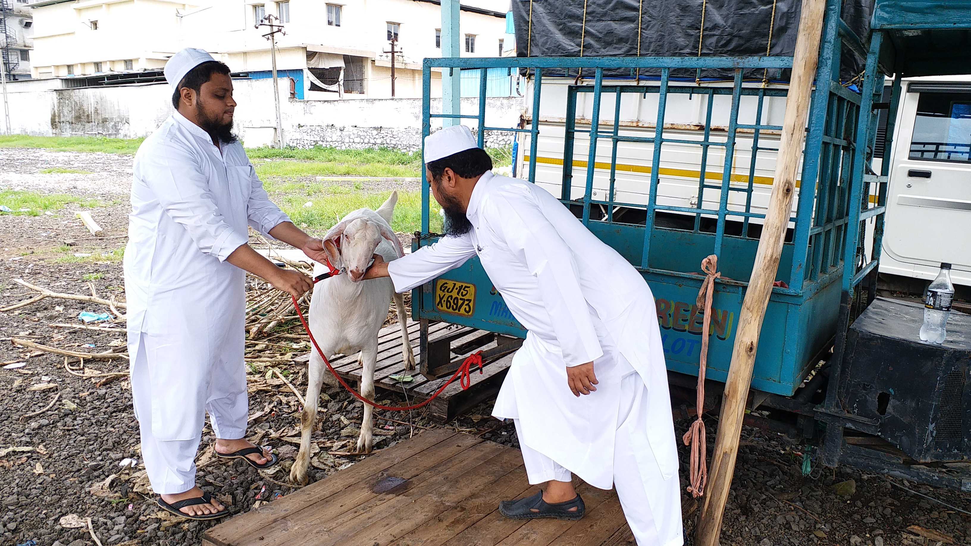
<path id="1" fill-rule="evenodd" d="M 401 293 L 438 277 L 476 256 L 476 247 L 468 235 L 445 236 L 418 251 L 387 264 L 394 291 Z"/>

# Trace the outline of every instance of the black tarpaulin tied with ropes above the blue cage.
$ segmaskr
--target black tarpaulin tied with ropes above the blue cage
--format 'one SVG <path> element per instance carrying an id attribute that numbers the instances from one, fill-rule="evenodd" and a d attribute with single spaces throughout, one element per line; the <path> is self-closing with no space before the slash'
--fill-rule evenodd
<path id="1" fill-rule="evenodd" d="M 724 56 L 791 55 L 802 0 L 513 0 L 519 56 Z M 873 0 L 846 0 L 843 20 L 868 40 Z M 864 59 L 844 51 L 844 76 Z M 569 71 L 577 75 L 577 69 Z M 586 69 L 585 77 L 593 71 Z M 564 71 L 545 70 L 549 75 Z M 610 78 L 656 76 L 658 71 L 610 70 Z M 747 80 L 788 81 L 788 70 L 747 70 Z M 672 71 L 694 80 L 695 70 Z M 731 79 L 709 70 L 703 80 Z"/>

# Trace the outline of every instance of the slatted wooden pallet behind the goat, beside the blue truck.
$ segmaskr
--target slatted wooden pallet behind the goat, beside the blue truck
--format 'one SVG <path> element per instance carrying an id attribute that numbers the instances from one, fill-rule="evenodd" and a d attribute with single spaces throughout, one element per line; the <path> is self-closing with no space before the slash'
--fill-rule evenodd
<path id="1" fill-rule="evenodd" d="M 375 365 L 375 386 L 378 389 L 392 392 L 404 392 L 410 402 L 421 401 L 438 391 L 444 385 L 454 369 L 456 362 L 481 349 L 495 347 L 506 340 L 497 339 L 491 332 L 485 332 L 468 326 L 448 323 L 432 323 L 427 325 L 428 345 L 431 348 L 425 358 L 421 351 L 419 339 L 421 325 L 415 321 L 408 323 L 408 337 L 415 352 L 415 359 L 420 362 L 421 370 L 406 372 L 404 360 L 401 356 L 401 326 L 391 324 L 381 329 L 378 334 L 378 363 Z M 310 354 L 295 358 L 297 362 L 306 363 Z M 485 362 L 483 373 L 478 368 L 471 375 L 472 385 L 463 391 L 458 381 L 452 383 L 444 392 L 428 404 L 429 416 L 437 423 L 452 421 L 462 412 L 474 407 L 486 398 L 495 395 L 502 385 L 506 371 L 512 363 L 512 355 Z M 330 364 L 337 370 L 337 374 L 355 389 L 360 388 L 361 365 L 357 355 L 342 355 L 330 359 Z M 450 365 L 451 364 L 451 365 Z M 432 367 L 439 371 L 452 369 L 448 375 L 434 378 L 425 371 Z M 391 379 L 391 376 L 409 375 L 410 382 Z M 380 394 L 379 394 L 380 396 Z"/>

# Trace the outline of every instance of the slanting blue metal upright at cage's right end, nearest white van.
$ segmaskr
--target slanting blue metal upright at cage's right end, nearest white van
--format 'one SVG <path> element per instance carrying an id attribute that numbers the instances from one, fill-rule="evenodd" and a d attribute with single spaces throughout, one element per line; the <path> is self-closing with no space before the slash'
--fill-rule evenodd
<path id="1" fill-rule="evenodd" d="M 870 138 L 870 119 L 873 116 L 873 87 L 876 81 L 877 59 L 880 57 L 880 46 L 884 42 L 883 32 L 874 32 L 870 36 L 870 53 L 866 57 L 866 70 L 863 73 L 863 89 L 860 96 L 859 111 L 856 121 L 856 149 L 853 158 L 853 178 L 850 183 L 849 213 L 850 222 L 846 231 L 846 244 L 843 250 L 843 291 L 853 296 L 856 285 L 854 275 L 855 253 L 857 237 L 859 236 L 860 199 L 863 190 L 863 171 L 866 165 L 866 149 Z M 873 262 L 876 265 L 876 262 Z M 862 271 L 861 271 L 862 272 Z"/>

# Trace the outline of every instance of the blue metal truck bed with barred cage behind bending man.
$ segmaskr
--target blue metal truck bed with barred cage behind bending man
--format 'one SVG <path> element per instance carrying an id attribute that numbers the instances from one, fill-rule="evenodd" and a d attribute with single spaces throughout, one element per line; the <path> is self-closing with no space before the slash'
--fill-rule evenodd
<path id="1" fill-rule="evenodd" d="M 878 117 L 887 112 L 886 139 L 879 146 L 883 147 L 883 155 L 889 157 L 901 78 L 971 73 L 971 57 L 961 52 L 969 51 L 966 46 L 971 1 L 877 0 L 866 40 L 843 22 L 842 4 L 840 0 L 827 0 L 799 193 L 779 265 L 780 283 L 772 291 L 765 314 L 752 381 L 753 389 L 761 392 L 756 396 L 769 399 L 772 403 L 768 405 L 798 414 L 806 435 L 812 435 L 815 420 L 832 425 L 827 427 L 827 446 L 832 448 L 827 462 L 831 463 L 839 460 L 844 428 L 879 433 L 872 423 L 854 420 L 839 407 L 836 382 L 830 382 L 828 387 L 824 384 L 827 377 L 839 377 L 848 326 L 876 295 L 890 168 L 889 161 L 873 168 Z M 957 43 L 964 44 L 964 49 L 955 49 Z M 844 49 L 865 59 L 863 71 L 852 88 L 840 79 L 841 68 L 845 68 L 841 66 Z M 747 83 L 744 74 L 751 69 L 791 66 L 790 56 L 428 58 L 423 65 L 422 135 L 428 135 L 433 124 L 445 119 L 467 120 L 473 130 L 478 130 L 483 148 L 490 132 L 513 133 L 519 137 L 518 154 L 525 161 L 525 172 L 519 175 L 536 182 L 543 139 L 539 112 L 544 77 L 549 73 L 562 74 L 564 69 L 583 69 L 587 80 L 581 82 L 578 78 L 566 93 L 559 197 L 590 231 L 637 267 L 651 286 L 672 378 L 697 375 L 700 337 L 707 333 L 712 336 L 707 376 L 723 382 L 734 344 L 734 326 L 752 273 L 759 224 L 764 219 L 752 206 L 756 156 L 771 150 L 760 137 L 782 128 L 763 121 L 762 106 L 771 97 L 787 94 L 787 89 L 778 85 Z M 531 79 L 529 117 L 519 126 L 490 125 L 483 98 L 477 113 L 432 112 L 433 71 L 478 72 L 480 97 L 485 97 L 487 71 L 495 68 L 516 69 Z M 695 85 L 693 81 L 685 83 L 672 78 L 673 71 L 683 73 L 684 69 L 699 74 L 702 70 L 728 70 L 733 78 L 727 86 Z M 659 77 L 639 77 L 636 81 L 605 78 L 605 71 L 617 74 L 619 70 L 629 70 L 631 74 L 653 71 Z M 894 78 L 885 100 L 885 81 L 890 75 Z M 621 133 L 621 101 L 628 93 L 656 95 L 653 134 Z M 700 133 L 691 137 L 669 130 L 666 125 L 671 116 L 669 98 L 685 93 L 701 97 L 707 108 L 707 122 Z M 576 122 L 581 96 L 592 97 L 589 128 Z M 757 101 L 753 119 L 740 118 L 744 97 Z M 726 98 L 730 99 L 729 121 L 716 138 L 712 114 L 719 108 L 717 103 L 723 105 Z M 603 121 L 610 119 L 611 110 L 612 126 L 604 128 L 602 125 L 607 123 Z M 751 135 L 751 143 L 746 142 L 748 162 L 736 159 L 737 135 L 742 131 Z M 576 150 L 578 135 L 588 140 L 586 151 Z M 615 200 L 619 145 L 630 143 L 642 146 L 645 157 L 651 157 L 644 169 L 650 173 L 646 203 Z M 658 202 L 661 157 L 668 145 L 700 149 L 694 206 Z M 723 157 L 720 164 L 715 162 L 715 173 L 708 170 L 713 150 Z M 598 160 L 607 154 L 610 162 Z M 740 168 L 746 166 L 747 169 Z M 574 173 L 581 170 L 584 175 L 575 177 Z M 594 192 L 594 177 L 605 175 L 609 177 L 609 190 L 598 195 Z M 427 181 L 422 184 L 422 193 L 421 230 L 416 233 L 414 249 L 440 237 L 430 229 L 433 215 Z M 717 206 L 706 204 L 713 202 L 704 197 L 709 193 L 718 196 Z M 744 206 L 732 198 L 734 194 L 744 196 Z M 616 214 L 621 210 L 623 215 Z M 701 316 L 693 302 L 703 279 L 701 260 L 712 254 L 719 256 L 722 278 L 716 285 L 712 329 L 702 332 Z M 469 286 L 474 300 L 471 309 L 456 311 L 437 304 L 441 298 L 435 297 L 436 291 L 456 284 Z M 505 336 L 524 334 L 501 294 L 491 287 L 477 258 L 414 290 L 412 304 L 413 317 L 422 324 L 425 373 L 429 323 L 461 324 Z M 797 393 L 800 389 L 803 392 Z M 792 427 L 784 428 L 791 430 Z"/>

